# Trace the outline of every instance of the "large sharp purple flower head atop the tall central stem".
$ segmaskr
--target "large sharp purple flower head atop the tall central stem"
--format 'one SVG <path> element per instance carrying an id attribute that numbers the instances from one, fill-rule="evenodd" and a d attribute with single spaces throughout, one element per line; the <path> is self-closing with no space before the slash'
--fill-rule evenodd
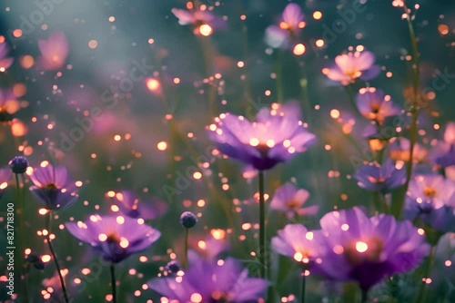
<path id="1" fill-rule="evenodd" d="M 258 112 L 256 122 L 222 113 L 208 127 L 208 135 L 220 152 L 256 170 L 268 170 L 315 142 L 316 136 L 299 120 L 299 112 L 295 103 L 274 103 L 271 110 Z"/>

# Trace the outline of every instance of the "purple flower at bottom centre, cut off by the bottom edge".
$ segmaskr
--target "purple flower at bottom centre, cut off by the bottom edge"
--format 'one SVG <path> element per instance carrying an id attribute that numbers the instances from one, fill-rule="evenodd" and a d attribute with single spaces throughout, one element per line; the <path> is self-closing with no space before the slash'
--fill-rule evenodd
<path id="1" fill-rule="evenodd" d="M 198 259 L 184 276 L 152 279 L 147 285 L 177 302 L 252 303 L 264 298 L 268 281 L 248 278 L 248 269 L 235 259 Z"/>

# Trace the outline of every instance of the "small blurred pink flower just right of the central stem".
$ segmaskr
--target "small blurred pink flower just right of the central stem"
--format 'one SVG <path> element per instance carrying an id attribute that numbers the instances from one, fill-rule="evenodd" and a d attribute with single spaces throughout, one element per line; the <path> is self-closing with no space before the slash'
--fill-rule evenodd
<path id="1" fill-rule="evenodd" d="M 288 219 L 292 218 L 296 213 L 299 216 L 312 216 L 318 212 L 319 206 L 313 205 L 303 208 L 308 198 L 308 191 L 303 189 L 298 190 L 294 184 L 286 183 L 275 191 L 273 199 L 270 202 L 270 208 L 286 211 Z"/>

